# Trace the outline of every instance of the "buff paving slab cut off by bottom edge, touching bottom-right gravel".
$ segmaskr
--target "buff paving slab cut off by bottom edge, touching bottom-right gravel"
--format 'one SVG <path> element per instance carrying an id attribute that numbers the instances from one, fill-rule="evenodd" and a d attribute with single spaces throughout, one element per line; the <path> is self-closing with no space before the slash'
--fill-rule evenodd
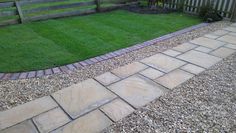
<path id="1" fill-rule="evenodd" d="M 52 133 L 99 133 L 112 124 L 101 111 L 92 111 Z"/>

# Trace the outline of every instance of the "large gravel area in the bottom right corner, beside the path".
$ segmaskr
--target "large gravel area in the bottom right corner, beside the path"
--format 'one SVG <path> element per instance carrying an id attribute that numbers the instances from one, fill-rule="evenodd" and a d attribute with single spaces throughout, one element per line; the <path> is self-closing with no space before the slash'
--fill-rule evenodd
<path id="1" fill-rule="evenodd" d="M 236 132 L 236 53 L 104 130 Z"/>

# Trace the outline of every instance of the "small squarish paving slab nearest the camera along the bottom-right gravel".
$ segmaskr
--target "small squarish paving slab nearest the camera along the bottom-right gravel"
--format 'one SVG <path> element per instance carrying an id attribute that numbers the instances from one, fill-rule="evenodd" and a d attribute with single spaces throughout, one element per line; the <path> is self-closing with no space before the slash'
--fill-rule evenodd
<path id="1" fill-rule="evenodd" d="M 116 99 L 111 103 L 102 106 L 101 110 L 113 121 L 119 121 L 134 111 L 130 105 L 121 99 Z"/>

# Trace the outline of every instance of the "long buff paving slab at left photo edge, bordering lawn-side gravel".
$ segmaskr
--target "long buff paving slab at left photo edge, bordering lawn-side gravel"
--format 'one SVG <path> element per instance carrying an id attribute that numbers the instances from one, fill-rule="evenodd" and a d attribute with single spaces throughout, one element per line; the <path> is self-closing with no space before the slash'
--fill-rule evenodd
<path id="1" fill-rule="evenodd" d="M 47 96 L 0 112 L 0 130 L 30 119 L 57 106 L 56 102 Z"/>

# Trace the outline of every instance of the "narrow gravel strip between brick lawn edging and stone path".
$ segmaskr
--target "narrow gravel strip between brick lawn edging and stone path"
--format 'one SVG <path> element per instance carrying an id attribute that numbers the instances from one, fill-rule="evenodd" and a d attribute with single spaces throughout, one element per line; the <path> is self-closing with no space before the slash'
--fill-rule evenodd
<path id="1" fill-rule="evenodd" d="M 119 66 L 131 63 L 136 60 L 154 55 L 158 52 L 172 48 L 181 43 L 200 37 L 206 33 L 221 29 L 230 25 L 228 21 L 212 23 L 204 28 L 176 36 L 152 46 L 148 46 L 125 55 L 109 59 L 97 64 L 75 70 L 69 74 L 60 73 L 45 76 L 42 78 L 19 79 L 0 81 L 0 111 L 10 109 L 14 106 L 29 102 L 78 83 L 82 80 L 93 78 L 97 75 L 110 71 Z"/>

